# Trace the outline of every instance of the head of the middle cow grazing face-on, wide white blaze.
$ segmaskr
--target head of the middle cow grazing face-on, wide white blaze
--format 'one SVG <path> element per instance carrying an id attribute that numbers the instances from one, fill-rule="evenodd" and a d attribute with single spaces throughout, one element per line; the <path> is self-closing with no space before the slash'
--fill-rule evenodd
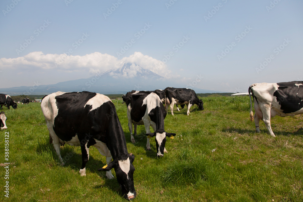
<path id="1" fill-rule="evenodd" d="M 156 131 L 154 133 L 147 133 L 146 135 L 150 136 L 150 137 L 155 136 L 155 141 L 156 141 L 156 146 L 157 146 L 157 157 L 160 157 L 160 156 L 164 155 L 166 137 L 173 139 L 176 134 L 167 133 L 165 131 Z"/>

